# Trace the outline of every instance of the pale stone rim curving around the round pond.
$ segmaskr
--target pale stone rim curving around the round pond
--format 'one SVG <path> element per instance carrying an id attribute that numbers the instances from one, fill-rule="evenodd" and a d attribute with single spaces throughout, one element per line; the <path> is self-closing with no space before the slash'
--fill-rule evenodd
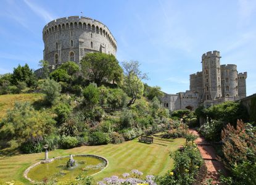
<path id="1" fill-rule="evenodd" d="M 107 168 L 107 167 L 109 166 L 109 161 L 108 161 L 106 158 L 101 157 L 101 156 L 99 156 L 99 155 L 91 155 L 91 154 L 78 154 L 78 155 L 73 155 L 73 157 L 75 157 L 75 156 L 95 157 L 95 158 L 99 158 L 100 160 L 103 160 L 103 161 L 106 163 L 106 165 L 105 165 L 105 167 L 104 167 L 101 171 L 103 171 L 105 168 Z M 53 162 L 54 159 L 68 158 L 68 157 L 70 157 L 70 156 L 69 156 L 69 155 L 66 155 L 66 156 L 55 157 L 55 158 L 49 159 L 49 161 Z M 28 181 L 30 181 L 30 183 L 35 184 L 36 181 L 33 181 L 32 179 L 28 178 L 28 172 L 29 172 L 32 168 L 34 168 L 34 167 L 40 165 L 41 163 L 42 163 L 42 161 L 37 162 L 37 163 L 31 165 L 30 167 L 28 167 L 27 170 L 24 171 L 23 176 L 24 176 L 26 179 L 28 179 Z M 94 173 L 93 175 L 90 175 L 90 176 L 94 176 L 94 175 L 100 173 L 101 171 L 98 171 L 97 173 Z"/>

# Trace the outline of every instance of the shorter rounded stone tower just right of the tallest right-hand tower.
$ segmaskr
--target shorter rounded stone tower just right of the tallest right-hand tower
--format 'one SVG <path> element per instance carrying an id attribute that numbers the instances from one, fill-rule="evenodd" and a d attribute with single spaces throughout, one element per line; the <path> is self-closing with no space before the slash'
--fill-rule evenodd
<path id="1" fill-rule="evenodd" d="M 221 91 L 225 97 L 238 96 L 237 67 L 234 64 L 221 65 Z"/>

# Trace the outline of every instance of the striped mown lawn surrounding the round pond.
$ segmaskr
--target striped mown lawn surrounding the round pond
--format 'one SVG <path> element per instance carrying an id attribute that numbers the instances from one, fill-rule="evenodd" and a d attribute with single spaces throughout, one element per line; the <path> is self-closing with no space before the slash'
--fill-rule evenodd
<path id="1" fill-rule="evenodd" d="M 154 137 L 154 144 L 144 144 L 138 142 L 138 139 L 134 139 L 116 145 L 83 146 L 69 150 L 58 149 L 50 151 L 49 157 L 68 154 L 95 154 L 107 158 L 109 166 L 94 176 L 96 181 L 112 175 L 122 175 L 133 169 L 142 171 L 144 175 L 163 175 L 173 167 L 169 152 L 178 149 L 184 143 L 185 139 L 182 138 L 162 139 Z M 23 178 L 23 171 L 43 158 L 44 153 L 2 156 L 0 157 L 0 179 L 4 181 L 15 179 L 29 184 Z"/>

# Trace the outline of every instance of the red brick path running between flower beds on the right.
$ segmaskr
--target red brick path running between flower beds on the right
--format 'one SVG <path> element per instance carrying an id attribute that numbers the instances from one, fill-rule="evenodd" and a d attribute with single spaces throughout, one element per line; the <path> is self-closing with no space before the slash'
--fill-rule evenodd
<path id="1" fill-rule="evenodd" d="M 205 161 L 205 165 L 207 167 L 207 179 L 212 178 L 212 184 L 218 184 L 218 170 L 225 172 L 225 167 L 220 161 L 217 160 L 215 150 L 209 142 L 205 141 L 205 139 L 200 136 L 196 130 L 189 129 L 189 132 L 199 136 L 195 143 L 197 144 L 197 147 L 200 150 L 200 154 Z"/>

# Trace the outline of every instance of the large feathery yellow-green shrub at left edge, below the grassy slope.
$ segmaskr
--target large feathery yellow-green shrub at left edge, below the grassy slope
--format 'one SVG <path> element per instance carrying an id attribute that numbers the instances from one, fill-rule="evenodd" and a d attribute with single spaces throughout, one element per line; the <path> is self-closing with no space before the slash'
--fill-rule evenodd
<path id="1" fill-rule="evenodd" d="M 0 122 L 0 139 L 18 145 L 31 138 L 40 138 L 54 131 L 56 121 L 49 113 L 36 111 L 28 102 L 16 102 Z"/>

